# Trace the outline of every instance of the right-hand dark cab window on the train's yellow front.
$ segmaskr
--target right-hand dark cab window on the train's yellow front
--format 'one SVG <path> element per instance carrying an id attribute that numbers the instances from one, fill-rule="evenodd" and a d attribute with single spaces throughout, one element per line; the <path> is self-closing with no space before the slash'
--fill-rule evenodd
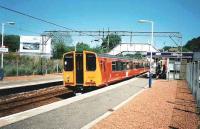
<path id="1" fill-rule="evenodd" d="M 86 69 L 87 71 L 96 70 L 96 56 L 95 54 L 86 54 Z"/>

